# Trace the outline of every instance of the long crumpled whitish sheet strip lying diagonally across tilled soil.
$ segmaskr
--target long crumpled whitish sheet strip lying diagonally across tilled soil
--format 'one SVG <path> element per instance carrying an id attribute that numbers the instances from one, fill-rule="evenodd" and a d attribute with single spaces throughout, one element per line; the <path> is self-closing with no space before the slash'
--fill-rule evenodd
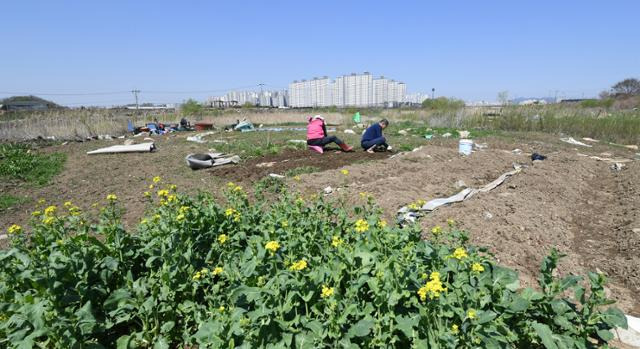
<path id="1" fill-rule="evenodd" d="M 462 202 L 464 200 L 467 200 L 473 197 L 478 193 L 486 193 L 488 191 L 491 191 L 495 189 L 497 186 L 499 186 L 500 184 L 502 184 L 508 177 L 513 176 L 522 170 L 522 168 L 519 165 L 514 164 L 513 167 L 514 167 L 513 171 L 504 173 L 503 175 L 498 177 L 496 180 L 494 180 L 491 183 L 488 183 L 482 188 L 478 188 L 478 189 L 466 188 L 461 192 L 459 192 L 458 194 L 455 194 L 448 198 L 439 198 L 439 199 L 428 201 L 417 210 L 409 208 L 409 206 L 403 206 L 397 212 L 397 222 L 400 225 L 404 225 L 406 223 L 414 223 L 424 213 L 431 212 L 440 206 L 452 204 L 455 202 Z"/>

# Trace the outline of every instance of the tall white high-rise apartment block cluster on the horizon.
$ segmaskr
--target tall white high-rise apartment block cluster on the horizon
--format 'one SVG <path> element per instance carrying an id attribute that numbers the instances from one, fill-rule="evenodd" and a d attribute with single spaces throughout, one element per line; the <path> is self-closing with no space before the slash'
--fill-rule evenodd
<path id="1" fill-rule="evenodd" d="M 364 74 L 351 74 L 330 80 L 328 77 L 294 81 L 289 84 L 292 107 L 366 107 L 401 103 L 407 87 L 402 82 L 384 77 L 374 79 Z"/>

